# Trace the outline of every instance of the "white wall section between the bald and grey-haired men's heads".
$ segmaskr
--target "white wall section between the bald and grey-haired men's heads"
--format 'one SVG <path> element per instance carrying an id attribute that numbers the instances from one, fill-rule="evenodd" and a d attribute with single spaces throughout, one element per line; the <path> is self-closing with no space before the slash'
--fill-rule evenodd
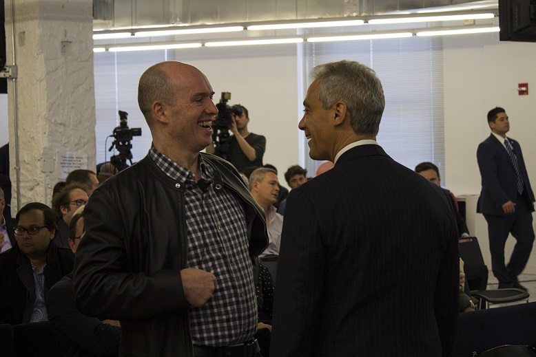
<path id="1" fill-rule="evenodd" d="M 249 131 L 266 137 L 263 159 L 284 173 L 298 164 L 298 73 L 296 45 L 201 48 L 178 58 L 198 67 L 209 79 L 218 102 L 222 91 L 231 92 L 229 105 L 249 111 Z"/>

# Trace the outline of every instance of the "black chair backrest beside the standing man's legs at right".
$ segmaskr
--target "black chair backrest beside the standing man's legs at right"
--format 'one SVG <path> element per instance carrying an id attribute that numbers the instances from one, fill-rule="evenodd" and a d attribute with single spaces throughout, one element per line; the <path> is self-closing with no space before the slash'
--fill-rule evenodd
<path id="1" fill-rule="evenodd" d="M 464 261 L 465 279 L 470 290 L 486 290 L 488 267 L 484 263 L 482 251 L 476 237 L 460 238 L 458 241 L 460 258 Z"/>

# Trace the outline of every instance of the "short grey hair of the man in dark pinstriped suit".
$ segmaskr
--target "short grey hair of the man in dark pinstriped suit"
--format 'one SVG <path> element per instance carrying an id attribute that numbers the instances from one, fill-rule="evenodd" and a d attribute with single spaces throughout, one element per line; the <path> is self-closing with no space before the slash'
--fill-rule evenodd
<path id="1" fill-rule="evenodd" d="M 344 60 L 314 67 L 311 78 L 318 80 L 318 99 L 324 109 L 341 100 L 347 105 L 355 133 L 378 134 L 385 97 L 382 83 L 373 69 Z"/>

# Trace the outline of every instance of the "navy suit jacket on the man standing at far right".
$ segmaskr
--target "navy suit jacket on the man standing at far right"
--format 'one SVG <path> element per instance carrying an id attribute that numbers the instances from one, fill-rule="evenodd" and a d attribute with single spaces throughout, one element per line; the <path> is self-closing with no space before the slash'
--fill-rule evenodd
<path id="1" fill-rule="evenodd" d="M 525 161 L 519 143 L 511 138 L 508 141 L 514 148 L 519 170 L 525 182 L 530 202 L 534 202 L 533 189 L 530 187 Z M 517 173 L 508 157 L 508 152 L 493 134 L 478 145 L 478 168 L 482 177 L 482 191 L 477 204 L 477 212 L 484 215 L 504 215 L 502 204 L 517 202 Z"/>

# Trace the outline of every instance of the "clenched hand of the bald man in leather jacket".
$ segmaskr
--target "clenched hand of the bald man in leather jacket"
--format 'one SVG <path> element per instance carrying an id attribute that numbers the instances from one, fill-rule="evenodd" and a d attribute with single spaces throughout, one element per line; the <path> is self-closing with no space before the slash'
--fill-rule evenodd
<path id="1" fill-rule="evenodd" d="M 194 307 L 200 307 L 210 299 L 216 290 L 216 277 L 205 270 L 186 268 L 181 270 L 184 296 Z"/>

